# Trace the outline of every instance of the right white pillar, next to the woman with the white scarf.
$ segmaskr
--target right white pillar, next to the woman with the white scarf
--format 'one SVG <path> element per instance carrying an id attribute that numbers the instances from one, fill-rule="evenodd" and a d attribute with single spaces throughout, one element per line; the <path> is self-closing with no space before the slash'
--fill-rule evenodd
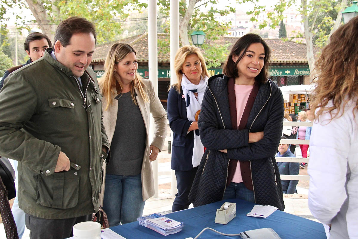
<path id="1" fill-rule="evenodd" d="M 170 85 L 178 82 L 175 74 L 174 59 L 179 49 L 179 0 L 170 0 Z M 173 132 L 171 133 L 173 135 Z M 173 142 L 173 141 L 172 141 Z M 171 195 L 175 196 L 176 177 L 171 170 Z"/>

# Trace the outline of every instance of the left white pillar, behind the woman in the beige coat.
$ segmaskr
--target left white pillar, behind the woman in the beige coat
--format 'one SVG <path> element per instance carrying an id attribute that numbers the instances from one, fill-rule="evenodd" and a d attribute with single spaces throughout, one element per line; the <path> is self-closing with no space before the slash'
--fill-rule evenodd
<path id="1" fill-rule="evenodd" d="M 149 80 L 153 83 L 155 94 L 158 95 L 158 29 L 156 0 L 149 0 L 148 3 L 148 68 Z M 150 137 L 154 135 L 154 120 L 150 118 Z M 151 140 L 151 139 L 150 139 Z M 158 159 L 152 162 L 154 189 L 153 197 L 158 197 Z"/>

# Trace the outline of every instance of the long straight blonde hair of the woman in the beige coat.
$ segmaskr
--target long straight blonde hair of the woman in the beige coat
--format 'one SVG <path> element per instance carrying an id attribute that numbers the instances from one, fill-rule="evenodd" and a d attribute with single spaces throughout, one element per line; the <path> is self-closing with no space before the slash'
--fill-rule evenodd
<path id="1" fill-rule="evenodd" d="M 136 52 L 134 49 L 125 43 L 115 43 L 108 51 L 106 60 L 105 60 L 105 73 L 98 81 L 102 95 L 105 97 L 107 104 L 105 110 L 112 104 L 113 98 L 118 94 L 122 94 L 123 83 L 120 76 L 114 71 L 115 64 L 124 59 L 129 53 Z M 135 72 L 135 79 L 132 81 L 131 85 L 131 96 L 135 105 L 137 101 L 135 100 L 135 89 L 139 91 L 140 96 L 144 101 L 149 102 L 148 95 L 144 91 L 144 83 L 141 80 L 142 78 L 138 75 L 137 71 Z"/>

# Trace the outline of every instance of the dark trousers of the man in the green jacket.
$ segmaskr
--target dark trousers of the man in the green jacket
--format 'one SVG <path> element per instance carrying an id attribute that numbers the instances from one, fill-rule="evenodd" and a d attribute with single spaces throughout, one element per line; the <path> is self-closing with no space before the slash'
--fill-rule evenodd
<path id="1" fill-rule="evenodd" d="M 64 239 L 73 236 L 72 228 L 77 223 L 91 221 L 92 214 L 67 219 L 44 219 L 25 214 L 26 228 L 30 239 Z"/>

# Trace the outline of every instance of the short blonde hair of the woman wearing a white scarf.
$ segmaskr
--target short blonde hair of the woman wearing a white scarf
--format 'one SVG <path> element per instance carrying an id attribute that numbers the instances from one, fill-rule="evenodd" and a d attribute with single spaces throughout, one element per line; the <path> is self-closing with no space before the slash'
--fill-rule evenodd
<path id="1" fill-rule="evenodd" d="M 176 74 L 176 78 L 178 78 L 178 83 L 175 83 L 172 86 L 170 86 L 170 87 L 174 87 L 178 93 L 180 93 L 180 87 L 182 87 L 183 64 L 184 64 L 185 58 L 191 54 L 196 54 L 199 58 L 200 64 L 202 65 L 201 76 L 202 77 L 204 77 L 204 76 L 210 77 L 208 69 L 206 68 L 204 56 L 201 53 L 200 49 L 197 47 L 194 47 L 194 46 L 189 46 L 189 45 L 180 47 L 175 54 L 175 60 L 174 60 L 175 74 Z"/>

